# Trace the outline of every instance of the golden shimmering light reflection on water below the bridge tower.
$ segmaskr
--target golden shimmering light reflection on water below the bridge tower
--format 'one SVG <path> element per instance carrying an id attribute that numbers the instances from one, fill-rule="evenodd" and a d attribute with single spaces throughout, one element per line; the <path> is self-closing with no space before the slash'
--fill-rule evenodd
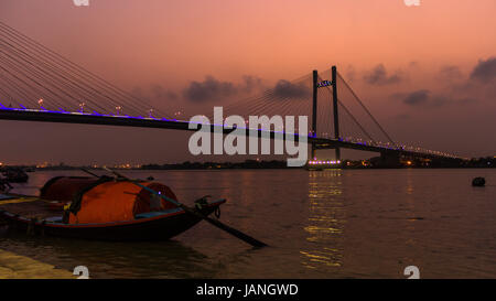
<path id="1" fill-rule="evenodd" d="M 302 265 L 309 269 L 343 264 L 346 221 L 342 181 L 342 170 L 309 172 L 309 218 L 304 230 L 311 247 L 300 251 Z"/>

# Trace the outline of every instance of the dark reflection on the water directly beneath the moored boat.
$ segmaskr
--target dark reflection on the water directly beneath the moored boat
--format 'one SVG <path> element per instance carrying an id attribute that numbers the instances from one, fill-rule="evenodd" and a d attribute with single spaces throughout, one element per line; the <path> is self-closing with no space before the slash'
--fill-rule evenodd
<path id="1" fill-rule="evenodd" d="M 33 237 L 11 230 L 0 236 L 3 250 L 14 251 L 72 271 L 86 266 L 93 278 L 214 277 L 207 256 L 180 241 L 110 243 Z"/>

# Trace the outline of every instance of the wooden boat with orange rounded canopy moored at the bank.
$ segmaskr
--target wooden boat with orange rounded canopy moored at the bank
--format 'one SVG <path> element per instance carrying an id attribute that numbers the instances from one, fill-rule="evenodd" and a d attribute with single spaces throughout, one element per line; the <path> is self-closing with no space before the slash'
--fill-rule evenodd
<path id="1" fill-rule="evenodd" d="M 140 182 L 176 200 L 165 185 Z M 195 202 L 195 209 L 208 216 L 219 214 L 225 200 Z M 165 240 L 197 224 L 202 218 L 155 197 L 131 181 L 103 176 L 54 178 L 40 196 L 0 194 L 0 219 L 10 227 L 33 235 L 97 240 Z"/>

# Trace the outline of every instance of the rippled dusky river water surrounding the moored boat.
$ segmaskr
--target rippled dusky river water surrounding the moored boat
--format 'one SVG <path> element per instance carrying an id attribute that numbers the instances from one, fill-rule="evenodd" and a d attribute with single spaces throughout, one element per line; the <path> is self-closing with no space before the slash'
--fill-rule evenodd
<path id="1" fill-rule="evenodd" d="M 52 176 L 34 172 L 17 192 Z M 496 278 L 496 170 L 129 171 L 185 204 L 227 198 L 220 221 L 267 243 L 252 249 L 202 222 L 171 241 L 105 243 L 0 230 L 0 250 L 91 278 Z M 486 187 L 472 187 L 485 176 Z M 0 261 L 1 261 L 0 252 Z M 42 276 L 41 276 L 42 277 Z"/>

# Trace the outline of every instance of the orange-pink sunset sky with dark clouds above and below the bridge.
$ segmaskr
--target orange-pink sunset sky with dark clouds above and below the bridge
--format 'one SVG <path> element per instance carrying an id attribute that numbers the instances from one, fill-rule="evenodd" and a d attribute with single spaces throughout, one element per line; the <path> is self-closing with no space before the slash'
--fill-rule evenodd
<path id="1" fill-rule="evenodd" d="M 337 65 L 395 140 L 465 157 L 496 155 L 495 13 L 494 0 L 0 1 L 0 21 L 158 107 L 195 106 L 207 76 L 270 87 Z M 187 154 L 181 131 L 0 121 L 0 137 L 7 163 L 226 160 Z"/>

